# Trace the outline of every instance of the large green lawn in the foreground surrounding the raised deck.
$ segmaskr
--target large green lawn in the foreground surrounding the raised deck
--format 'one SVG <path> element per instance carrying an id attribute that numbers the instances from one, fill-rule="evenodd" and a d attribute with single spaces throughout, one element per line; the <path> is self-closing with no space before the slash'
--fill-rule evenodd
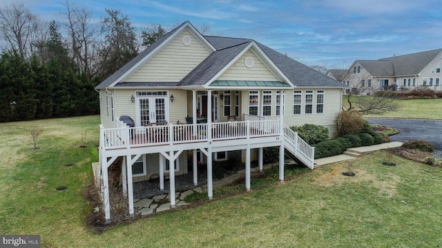
<path id="1" fill-rule="evenodd" d="M 83 189 L 96 160 L 98 116 L 0 123 L 0 233 L 42 247 L 437 247 L 442 169 L 376 152 L 293 180 L 95 234 Z M 44 128 L 30 149 L 28 129 Z M 79 148 L 86 131 L 87 148 Z M 72 163 L 73 166 L 65 165 Z M 58 192 L 59 186 L 68 189 Z"/>

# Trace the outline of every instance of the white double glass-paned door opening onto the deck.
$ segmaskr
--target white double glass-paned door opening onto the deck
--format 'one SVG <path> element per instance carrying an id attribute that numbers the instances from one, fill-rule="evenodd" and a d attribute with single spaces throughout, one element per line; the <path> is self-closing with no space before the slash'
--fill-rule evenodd
<path id="1" fill-rule="evenodd" d="M 152 123 L 166 123 L 166 103 L 165 96 L 144 96 L 137 97 L 137 126 L 150 125 Z"/>

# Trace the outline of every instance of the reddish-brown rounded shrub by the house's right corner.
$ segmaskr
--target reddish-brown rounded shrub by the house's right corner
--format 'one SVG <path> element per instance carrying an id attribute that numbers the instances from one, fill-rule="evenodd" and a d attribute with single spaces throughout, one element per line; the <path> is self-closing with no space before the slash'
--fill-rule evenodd
<path id="1" fill-rule="evenodd" d="M 363 132 L 366 128 L 366 122 L 362 116 L 354 110 L 345 110 L 337 114 L 334 118 L 334 124 L 336 126 L 338 136 L 344 136 L 345 134 L 358 134 Z"/>

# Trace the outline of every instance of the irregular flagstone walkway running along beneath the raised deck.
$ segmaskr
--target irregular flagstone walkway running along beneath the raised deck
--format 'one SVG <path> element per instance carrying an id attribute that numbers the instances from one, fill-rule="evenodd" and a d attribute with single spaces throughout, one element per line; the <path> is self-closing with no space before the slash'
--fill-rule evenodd
<path id="1" fill-rule="evenodd" d="M 294 161 L 291 161 L 291 159 L 287 159 L 285 161 L 285 165 L 289 165 L 291 163 L 294 163 Z M 277 165 L 279 165 L 279 163 L 269 163 L 266 165 L 262 165 L 262 169 L 269 169 L 270 167 Z M 259 167 L 251 168 L 250 172 L 251 176 L 253 176 L 253 174 L 258 174 L 260 172 Z M 221 180 L 213 180 L 213 189 L 216 189 L 223 185 L 229 185 L 240 178 L 245 178 L 245 173 L 246 170 L 242 169 L 229 176 L 225 176 Z M 189 196 L 189 194 L 192 194 L 193 192 L 207 192 L 207 185 L 198 186 L 194 189 L 187 190 L 186 192 L 176 192 L 175 207 L 189 205 L 190 203 L 186 203 L 184 198 L 186 198 L 186 196 Z M 133 207 L 135 213 L 140 213 L 142 216 L 146 216 L 148 214 L 155 214 L 161 211 L 172 209 L 170 199 L 170 194 L 162 194 L 158 196 L 153 196 L 152 198 L 134 199 Z"/>

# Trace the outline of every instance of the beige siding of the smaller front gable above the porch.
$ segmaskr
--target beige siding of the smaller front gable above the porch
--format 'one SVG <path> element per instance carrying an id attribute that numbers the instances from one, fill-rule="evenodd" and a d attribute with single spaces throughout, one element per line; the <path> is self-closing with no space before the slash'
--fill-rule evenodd
<path id="1" fill-rule="evenodd" d="M 245 59 L 249 56 L 255 61 L 252 68 L 247 68 L 244 64 Z M 233 63 L 217 80 L 281 81 L 251 50 L 243 54 L 240 59 Z"/>

